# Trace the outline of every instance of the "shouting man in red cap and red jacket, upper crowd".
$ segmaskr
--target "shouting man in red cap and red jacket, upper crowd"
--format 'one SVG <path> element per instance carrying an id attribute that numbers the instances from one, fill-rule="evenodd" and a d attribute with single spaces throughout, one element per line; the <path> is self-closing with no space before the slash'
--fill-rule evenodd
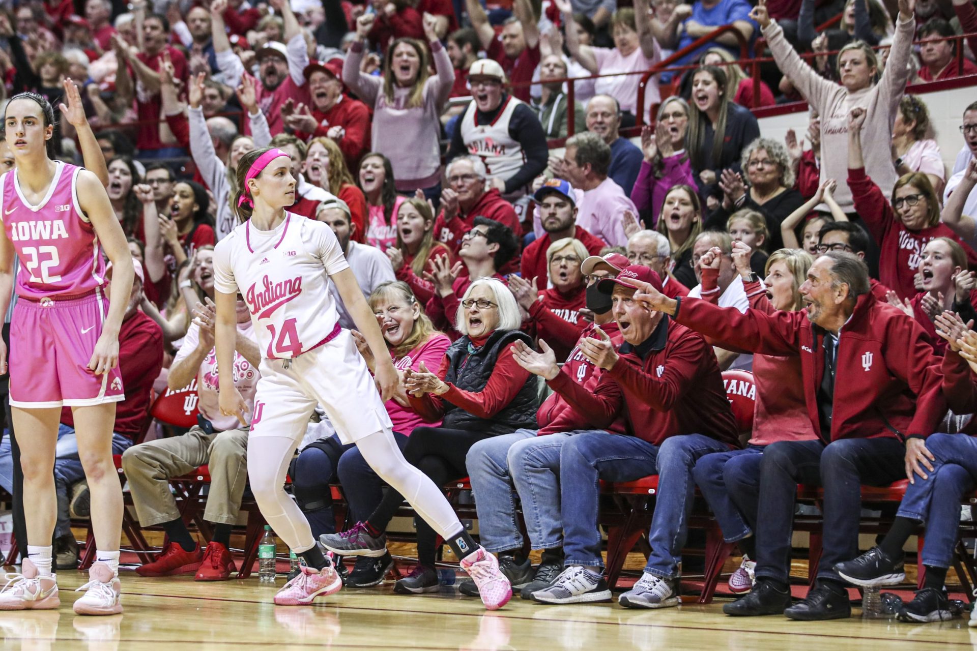
<path id="1" fill-rule="evenodd" d="M 285 126 L 304 141 L 328 138 L 339 145 L 346 166 L 356 174 L 360 158 L 369 151 L 369 109 L 359 100 L 344 95 L 343 62 L 314 61 L 303 74 L 309 83 L 312 105 L 296 107 L 285 117 Z"/>

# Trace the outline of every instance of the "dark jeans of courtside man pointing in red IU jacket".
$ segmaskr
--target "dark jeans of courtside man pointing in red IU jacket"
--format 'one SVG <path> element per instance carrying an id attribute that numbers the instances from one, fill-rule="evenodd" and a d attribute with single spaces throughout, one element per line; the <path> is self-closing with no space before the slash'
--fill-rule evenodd
<path id="1" fill-rule="evenodd" d="M 885 486 L 906 476 L 906 446 L 895 438 L 780 441 L 760 463 L 763 517 L 756 530 L 756 576 L 787 583 L 797 484 L 823 486 L 824 538 L 818 578 L 841 581 L 834 565 L 858 555 L 862 484 Z"/>

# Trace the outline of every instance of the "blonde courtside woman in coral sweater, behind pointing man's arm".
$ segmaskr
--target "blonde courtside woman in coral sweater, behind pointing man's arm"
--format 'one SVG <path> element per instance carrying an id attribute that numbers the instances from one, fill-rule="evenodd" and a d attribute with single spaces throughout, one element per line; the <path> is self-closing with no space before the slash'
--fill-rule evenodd
<path id="1" fill-rule="evenodd" d="M 719 252 L 718 249 L 713 249 Z M 711 252 L 710 252 L 711 253 Z M 750 249 L 743 242 L 733 243 L 733 263 L 743 278 L 749 306 L 764 312 L 801 309 L 798 289 L 807 277 L 814 259 L 800 249 L 780 249 L 767 260 L 766 286 L 749 267 Z M 709 260 L 706 260 L 706 259 Z M 718 255 L 702 256 L 702 299 L 717 303 Z M 748 592 L 752 587 L 756 562 L 757 501 L 760 491 L 760 461 L 764 448 L 784 440 L 813 440 L 818 432 L 807 415 L 804 390 L 800 383 L 800 357 L 753 355 L 756 383 L 753 409 L 753 435 L 742 450 L 705 455 L 693 469 L 696 483 L 723 531 L 723 540 L 737 543 L 743 563 L 730 577 L 733 592 Z"/>

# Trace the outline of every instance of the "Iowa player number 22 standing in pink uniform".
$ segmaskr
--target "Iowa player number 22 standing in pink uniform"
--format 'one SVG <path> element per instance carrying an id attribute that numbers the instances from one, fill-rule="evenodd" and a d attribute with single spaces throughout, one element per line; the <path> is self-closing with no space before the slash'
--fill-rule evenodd
<path id="1" fill-rule="evenodd" d="M 53 468 L 58 423 L 68 406 L 99 547 L 74 611 L 108 615 L 122 612 L 117 577 L 122 492 L 111 438 L 115 403 L 124 397 L 116 369 L 118 331 L 132 288 L 133 260 L 103 183 L 92 172 L 51 157 L 54 120 L 51 105 L 33 93 L 11 99 L 4 115 L 17 167 L 0 177 L 0 310 L 10 304 L 16 254 L 10 403 L 21 447 L 27 557 L 21 574 L 0 590 L 0 610 L 60 605 L 51 572 Z M 104 254 L 115 267 L 108 297 Z M 0 372 L 6 366 L 6 346 L 0 344 Z"/>

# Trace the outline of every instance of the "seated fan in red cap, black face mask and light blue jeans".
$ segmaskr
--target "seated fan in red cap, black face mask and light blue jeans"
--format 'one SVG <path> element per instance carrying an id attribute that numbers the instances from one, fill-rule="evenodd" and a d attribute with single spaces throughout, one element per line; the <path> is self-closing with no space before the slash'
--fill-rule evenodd
<path id="1" fill-rule="evenodd" d="M 616 253 L 612 262 L 620 264 Z M 600 260 L 600 259 L 598 259 Z M 623 261 L 626 262 L 626 261 Z M 611 339 L 615 348 L 623 343 L 611 312 L 610 297 L 597 292 L 597 280 L 613 276 L 613 264 L 602 264 L 590 272 L 587 308 L 594 314 L 594 322 L 580 335 L 561 373 L 572 382 L 593 390 L 604 370 L 595 366 L 580 351 L 580 343 L 594 337 L 597 328 Z M 591 289 L 592 288 L 592 289 Z M 517 345 L 518 346 L 518 345 Z M 553 355 L 545 342 L 539 345 L 544 354 Z M 524 353 L 526 348 L 523 348 Z M 516 358 L 519 362 L 519 357 Z M 521 362 L 524 368 L 530 366 Z M 590 427 L 586 416 L 559 393 L 551 393 L 536 411 L 538 429 L 519 429 L 511 434 L 492 436 L 479 441 L 468 451 L 465 467 L 478 493 L 479 534 L 482 544 L 498 556 L 499 568 L 509 578 L 513 588 L 523 589 L 523 598 L 530 598 L 535 590 L 542 590 L 563 571 L 563 520 L 560 518 L 560 448 L 571 437 L 588 431 L 624 432 L 623 419 L 617 419 L 606 431 Z M 549 434 L 549 435 L 544 435 Z M 523 553 L 523 534 L 513 509 L 519 496 L 526 520 L 526 533 L 531 549 L 542 549 L 542 561 L 533 571 L 530 560 Z M 462 582 L 458 591 L 478 596 L 472 581 Z"/>

